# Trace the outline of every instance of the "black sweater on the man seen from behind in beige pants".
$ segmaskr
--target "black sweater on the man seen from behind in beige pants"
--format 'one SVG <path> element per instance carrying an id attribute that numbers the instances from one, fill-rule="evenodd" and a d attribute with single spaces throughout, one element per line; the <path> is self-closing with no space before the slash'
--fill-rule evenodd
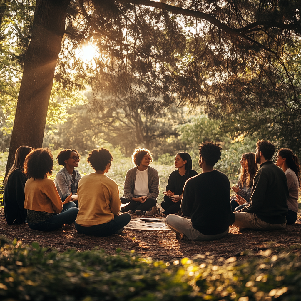
<path id="1" fill-rule="evenodd" d="M 187 180 L 181 202 L 182 213 L 191 217 L 193 228 L 202 234 L 220 234 L 235 221 L 229 199 L 228 177 L 214 169 Z"/>

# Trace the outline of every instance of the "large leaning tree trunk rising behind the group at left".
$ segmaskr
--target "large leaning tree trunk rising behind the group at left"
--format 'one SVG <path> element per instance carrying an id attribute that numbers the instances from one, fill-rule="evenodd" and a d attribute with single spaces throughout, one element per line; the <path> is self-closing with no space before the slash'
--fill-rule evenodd
<path id="1" fill-rule="evenodd" d="M 47 109 L 70 0 L 37 0 L 11 134 L 6 174 L 21 145 L 42 147 Z"/>

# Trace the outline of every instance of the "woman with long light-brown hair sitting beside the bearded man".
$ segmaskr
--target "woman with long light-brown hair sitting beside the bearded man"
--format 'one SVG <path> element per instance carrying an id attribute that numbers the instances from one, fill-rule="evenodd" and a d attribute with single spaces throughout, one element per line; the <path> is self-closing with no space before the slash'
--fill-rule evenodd
<path id="1" fill-rule="evenodd" d="M 254 176 L 258 170 L 257 163 L 255 161 L 254 153 L 242 154 L 240 160 L 240 173 L 236 187 L 232 189 L 236 193 L 236 197 L 231 197 L 231 210 L 238 210 L 238 206 L 250 203 L 250 197 L 252 195 L 252 186 Z M 241 208 L 239 208 L 241 209 Z"/>

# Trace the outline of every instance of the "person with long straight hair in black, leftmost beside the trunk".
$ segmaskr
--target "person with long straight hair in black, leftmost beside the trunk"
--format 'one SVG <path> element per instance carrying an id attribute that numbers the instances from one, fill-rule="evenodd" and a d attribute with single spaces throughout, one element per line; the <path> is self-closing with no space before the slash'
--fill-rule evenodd
<path id="1" fill-rule="evenodd" d="M 8 225 L 22 224 L 26 220 L 27 210 L 23 207 L 25 200 L 24 186 L 27 178 L 23 173 L 23 164 L 25 157 L 32 150 L 32 147 L 25 145 L 17 149 L 14 164 L 4 182 L 4 215 Z"/>

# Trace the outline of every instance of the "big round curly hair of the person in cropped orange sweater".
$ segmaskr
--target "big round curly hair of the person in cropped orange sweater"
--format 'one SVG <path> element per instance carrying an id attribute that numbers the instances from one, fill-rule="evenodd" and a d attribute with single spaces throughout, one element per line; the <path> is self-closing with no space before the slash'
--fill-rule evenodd
<path id="1" fill-rule="evenodd" d="M 27 178 L 43 179 L 51 174 L 53 156 L 48 148 L 37 148 L 31 151 L 24 162 L 24 174 Z"/>

